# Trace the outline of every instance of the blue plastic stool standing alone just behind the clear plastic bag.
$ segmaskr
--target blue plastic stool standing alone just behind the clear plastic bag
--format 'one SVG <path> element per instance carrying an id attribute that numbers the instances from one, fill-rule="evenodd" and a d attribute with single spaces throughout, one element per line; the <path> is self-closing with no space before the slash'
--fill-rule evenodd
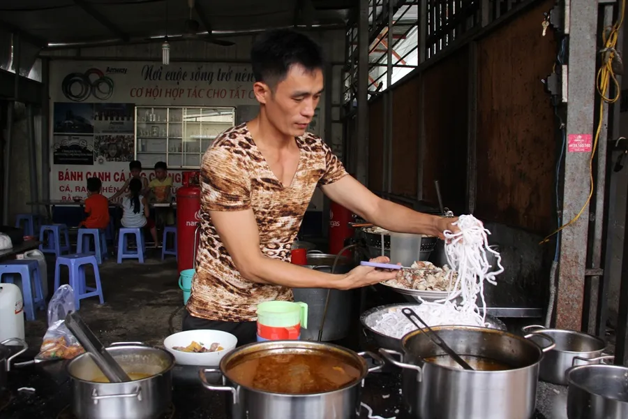
<path id="1" fill-rule="evenodd" d="M 98 261 L 96 256 L 85 253 L 77 253 L 73 255 L 59 256 L 57 265 L 54 266 L 54 289 L 59 289 L 61 282 L 61 265 L 66 265 L 70 270 L 69 284 L 74 290 L 74 307 L 80 309 L 81 300 L 89 297 L 100 299 L 100 304 L 105 304 L 103 297 L 103 287 L 100 285 L 100 272 L 98 272 Z M 87 286 L 85 283 L 85 265 L 94 267 L 94 278 L 96 279 L 96 288 Z"/>

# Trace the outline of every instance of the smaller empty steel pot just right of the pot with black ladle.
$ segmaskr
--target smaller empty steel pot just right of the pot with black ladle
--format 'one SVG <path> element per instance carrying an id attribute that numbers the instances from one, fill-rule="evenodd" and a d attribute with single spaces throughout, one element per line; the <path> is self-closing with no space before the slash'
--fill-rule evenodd
<path id="1" fill-rule="evenodd" d="M 606 343 L 588 333 L 546 329 L 541 325 L 529 325 L 521 330 L 525 333 L 541 333 L 556 342 L 555 348 L 545 354 L 539 370 L 539 378 L 548 383 L 567 385 L 567 369 L 574 365 L 589 365 L 591 362 L 599 364 L 601 360 L 613 358 L 603 356 Z"/>

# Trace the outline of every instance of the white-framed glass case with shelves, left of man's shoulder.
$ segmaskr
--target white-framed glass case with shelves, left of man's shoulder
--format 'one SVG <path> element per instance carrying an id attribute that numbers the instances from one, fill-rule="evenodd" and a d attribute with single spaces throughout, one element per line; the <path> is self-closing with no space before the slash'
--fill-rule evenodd
<path id="1" fill-rule="evenodd" d="M 144 168 L 165 161 L 197 169 L 211 142 L 234 124 L 235 108 L 136 106 L 135 159 Z"/>

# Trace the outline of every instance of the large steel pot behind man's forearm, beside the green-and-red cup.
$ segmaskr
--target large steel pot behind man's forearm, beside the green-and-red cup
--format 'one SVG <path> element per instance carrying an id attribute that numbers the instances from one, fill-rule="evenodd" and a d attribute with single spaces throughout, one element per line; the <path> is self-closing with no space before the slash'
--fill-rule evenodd
<path id="1" fill-rule="evenodd" d="M 331 273 L 336 255 L 308 252 L 308 264 L 306 267 Z M 346 274 L 355 267 L 352 259 L 345 256 L 338 258 L 334 274 Z M 358 296 L 357 290 L 327 290 L 327 288 L 293 288 L 294 301 L 308 304 L 308 328 L 301 329 L 302 340 L 318 340 L 318 332 L 322 324 L 322 318 L 329 293 L 329 307 L 327 307 L 327 321 L 323 328 L 323 341 L 334 341 L 347 337 L 351 328 L 352 311 Z"/>

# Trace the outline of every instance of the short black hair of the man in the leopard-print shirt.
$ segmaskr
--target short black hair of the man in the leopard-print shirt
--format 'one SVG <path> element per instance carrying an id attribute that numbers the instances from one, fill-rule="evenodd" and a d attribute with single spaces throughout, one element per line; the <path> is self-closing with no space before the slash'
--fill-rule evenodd
<path id="1" fill-rule="evenodd" d="M 266 31 L 251 48 L 251 66 L 256 82 L 275 87 L 294 64 L 307 71 L 322 69 L 322 48 L 309 36 L 292 29 Z"/>

